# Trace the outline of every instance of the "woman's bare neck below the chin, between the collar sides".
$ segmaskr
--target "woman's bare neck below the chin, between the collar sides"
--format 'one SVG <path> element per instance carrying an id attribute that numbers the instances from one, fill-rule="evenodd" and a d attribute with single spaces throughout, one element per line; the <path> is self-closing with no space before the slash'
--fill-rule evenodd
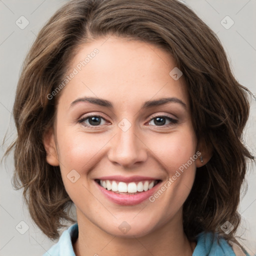
<path id="1" fill-rule="evenodd" d="M 144 236 L 120 237 L 106 233 L 87 218 L 77 215 L 79 234 L 73 243 L 75 255 L 191 256 L 196 243 L 188 241 L 181 216 L 176 216 L 171 222 Z"/>

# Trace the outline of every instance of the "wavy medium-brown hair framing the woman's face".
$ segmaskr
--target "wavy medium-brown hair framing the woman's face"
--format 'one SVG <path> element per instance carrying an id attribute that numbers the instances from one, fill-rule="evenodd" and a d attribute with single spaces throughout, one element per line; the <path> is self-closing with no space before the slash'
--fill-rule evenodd
<path id="1" fill-rule="evenodd" d="M 241 137 L 248 90 L 234 78 L 214 32 L 177 0 L 71 0 L 39 31 L 18 80 L 17 138 L 6 151 L 14 149 L 14 185 L 24 188 L 32 219 L 53 240 L 64 226 L 61 220 L 75 221 L 59 166 L 46 162 L 42 137 L 53 126 L 61 91 L 52 99 L 47 95 L 63 80 L 79 45 L 112 34 L 160 46 L 183 72 L 196 137 L 212 147 L 184 202 L 184 231 L 189 240 L 216 230 L 233 240 L 246 158 L 253 159 Z M 226 220 L 234 226 L 229 234 L 219 228 Z"/>

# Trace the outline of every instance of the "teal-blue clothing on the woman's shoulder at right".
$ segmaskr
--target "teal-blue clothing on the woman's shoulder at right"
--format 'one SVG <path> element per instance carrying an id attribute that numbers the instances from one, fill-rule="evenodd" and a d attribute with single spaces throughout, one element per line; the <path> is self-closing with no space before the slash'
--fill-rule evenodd
<path id="1" fill-rule="evenodd" d="M 249 256 L 233 242 L 227 242 L 223 236 L 213 232 L 201 232 L 197 235 L 197 244 L 192 256 Z"/>

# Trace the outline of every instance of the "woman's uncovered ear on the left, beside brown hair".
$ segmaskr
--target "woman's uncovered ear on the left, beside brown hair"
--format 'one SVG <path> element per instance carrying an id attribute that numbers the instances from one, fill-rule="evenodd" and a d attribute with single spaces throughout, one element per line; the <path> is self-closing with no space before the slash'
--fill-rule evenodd
<path id="1" fill-rule="evenodd" d="M 46 151 L 46 161 L 48 164 L 53 166 L 58 166 L 58 155 L 56 150 L 56 143 L 54 140 L 54 132 L 53 129 L 49 129 L 44 135 L 43 135 L 43 145 L 44 149 Z"/>

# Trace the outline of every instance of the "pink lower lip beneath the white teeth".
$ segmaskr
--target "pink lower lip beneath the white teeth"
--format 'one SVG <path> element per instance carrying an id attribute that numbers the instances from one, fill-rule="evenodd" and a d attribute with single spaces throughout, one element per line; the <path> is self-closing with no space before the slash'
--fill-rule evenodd
<path id="1" fill-rule="evenodd" d="M 100 186 L 96 181 L 96 185 L 100 189 L 100 191 L 112 202 L 121 204 L 121 205 L 135 205 L 138 204 L 147 198 L 149 198 L 161 184 L 161 182 L 157 183 L 151 189 L 143 192 L 139 192 L 137 194 L 117 194 L 111 190 L 107 190 L 104 187 Z"/>

